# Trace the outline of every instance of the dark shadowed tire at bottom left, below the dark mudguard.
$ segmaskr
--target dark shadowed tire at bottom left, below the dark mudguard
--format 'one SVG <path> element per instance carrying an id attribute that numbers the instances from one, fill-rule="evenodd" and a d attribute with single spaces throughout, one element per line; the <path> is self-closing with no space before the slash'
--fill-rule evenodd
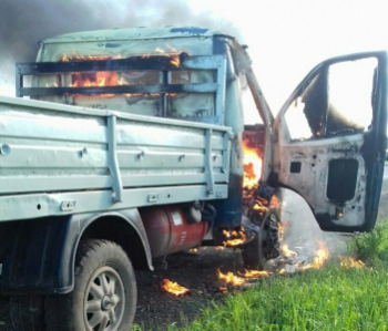
<path id="1" fill-rule="evenodd" d="M 16 331 L 45 331 L 44 297 L 10 297 L 11 325 Z M 0 329 L 1 330 L 1 329 Z"/>

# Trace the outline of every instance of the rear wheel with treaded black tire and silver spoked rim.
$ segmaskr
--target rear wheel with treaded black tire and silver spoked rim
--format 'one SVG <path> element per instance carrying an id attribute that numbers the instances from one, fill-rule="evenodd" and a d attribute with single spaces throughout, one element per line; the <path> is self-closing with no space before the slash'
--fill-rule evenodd
<path id="1" fill-rule="evenodd" d="M 48 331 L 129 331 L 135 309 L 135 276 L 125 251 L 112 241 L 85 240 L 76 254 L 74 290 L 47 297 Z"/>

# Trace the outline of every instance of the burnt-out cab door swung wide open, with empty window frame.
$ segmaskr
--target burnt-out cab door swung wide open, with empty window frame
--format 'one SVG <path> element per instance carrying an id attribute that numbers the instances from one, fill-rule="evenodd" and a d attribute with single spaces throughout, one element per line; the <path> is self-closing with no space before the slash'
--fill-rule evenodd
<path id="1" fill-rule="evenodd" d="M 330 59 L 298 85 L 275 121 L 274 172 L 319 227 L 375 227 L 387 142 L 387 53 Z"/>

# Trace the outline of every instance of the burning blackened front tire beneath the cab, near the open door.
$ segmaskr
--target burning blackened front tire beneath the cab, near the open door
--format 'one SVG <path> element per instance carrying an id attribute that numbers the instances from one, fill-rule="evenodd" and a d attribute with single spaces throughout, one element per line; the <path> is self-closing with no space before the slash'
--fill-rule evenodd
<path id="1" fill-rule="evenodd" d="M 269 210 L 264 217 L 258 235 L 245 244 L 242 256 L 244 265 L 249 269 L 264 270 L 267 260 L 278 254 L 278 221 L 277 210 Z"/>

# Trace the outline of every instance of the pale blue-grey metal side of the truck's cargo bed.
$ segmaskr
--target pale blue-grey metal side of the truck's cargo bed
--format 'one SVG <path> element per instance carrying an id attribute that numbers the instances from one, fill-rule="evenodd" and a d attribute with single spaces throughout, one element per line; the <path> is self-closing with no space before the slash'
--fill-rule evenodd
<path id="1" fill-rule="evenodd" d="M 0 97 L 0 220 L 227 196 L 228 127 Z"/>

